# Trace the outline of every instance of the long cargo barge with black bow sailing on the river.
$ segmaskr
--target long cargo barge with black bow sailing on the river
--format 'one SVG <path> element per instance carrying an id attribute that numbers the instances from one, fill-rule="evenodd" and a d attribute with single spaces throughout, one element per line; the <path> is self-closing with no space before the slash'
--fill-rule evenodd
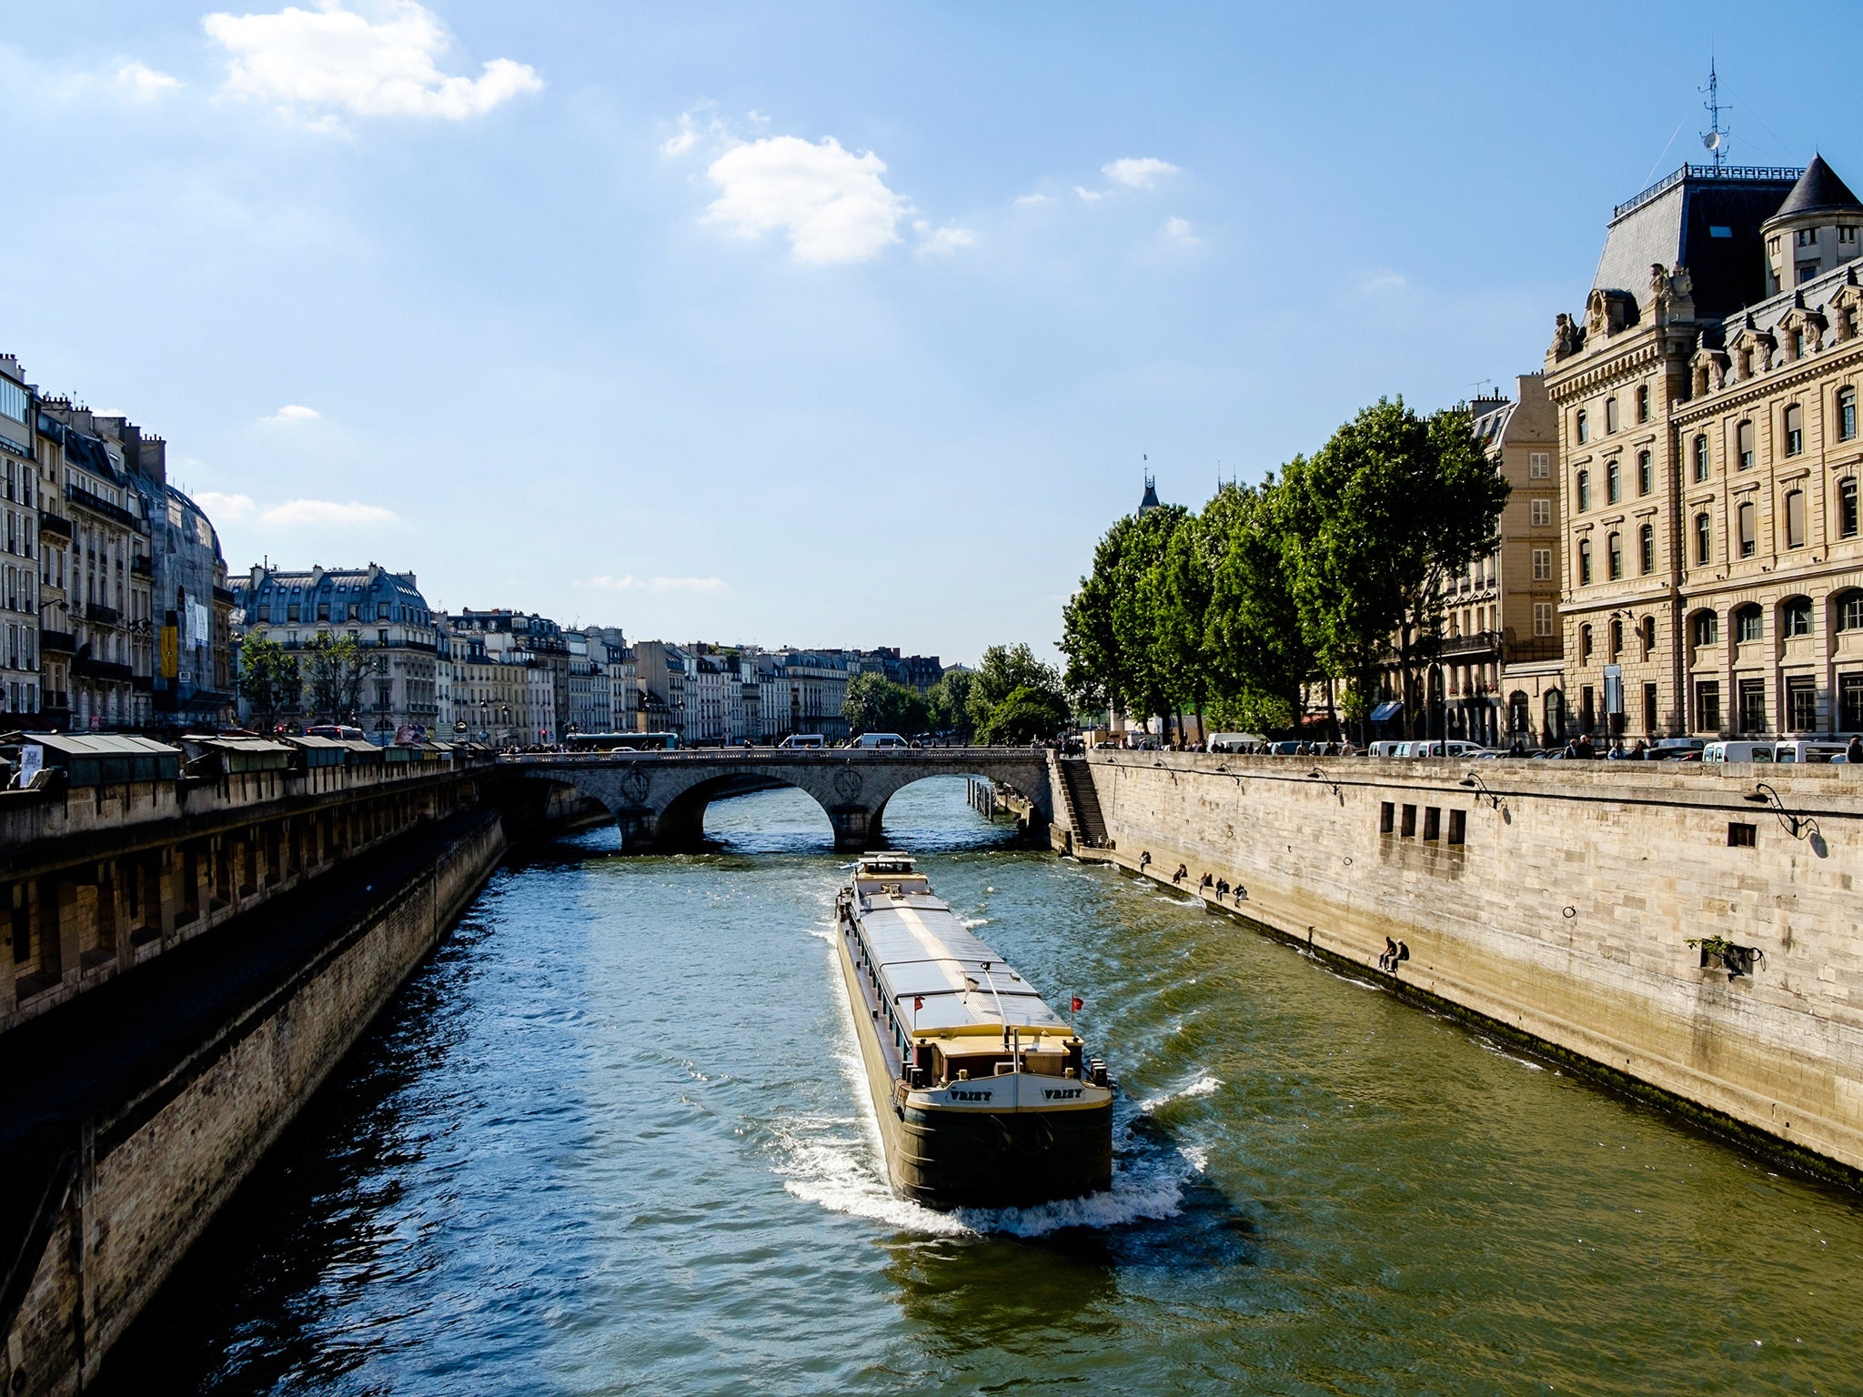
<path id="1" fill-rule="evenodd" d="M 892 1192 L 1028 1207 L 1112 1187 L 1107 1065 L 907 855 L 863 857 L 835 913 Z"/>

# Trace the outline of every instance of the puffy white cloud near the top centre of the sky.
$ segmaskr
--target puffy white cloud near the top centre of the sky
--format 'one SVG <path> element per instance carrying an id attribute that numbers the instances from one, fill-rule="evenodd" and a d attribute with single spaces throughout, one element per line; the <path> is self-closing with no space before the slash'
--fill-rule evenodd
<path id="1" fill-rule="evenodd" d="M 887 188 L 887 162 L 844 151 L 833 136 L 766 136 L 734 145 L 706 175 L 721 194 L 704 212 L 738 237 L 782 229 L 796 261 L 864 263 L 898 242 L 911 201 Z"/>

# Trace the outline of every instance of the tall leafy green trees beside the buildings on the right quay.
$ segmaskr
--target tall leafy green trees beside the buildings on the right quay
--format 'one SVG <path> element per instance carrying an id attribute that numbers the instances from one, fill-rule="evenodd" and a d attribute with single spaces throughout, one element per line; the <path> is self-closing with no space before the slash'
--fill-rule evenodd
<path id="1" fill-rule="evenodd" d="M 1194 712 L 1271 732 L 1300 721 L 1321 678 L 1336 719 L 1364 719 L 1386 665 L 1414 693 L 1440 648 L 1442 577 L 1494 548 L 1505 503 L 1466 410 L 1380 399 L 1200 514 L 1114 523 L 1064 613 L 1067 693 L 1081 710 L 1177 715 L 1179 730 Z M 1407 702 L 1407 734 L 1412 719 Z"/>

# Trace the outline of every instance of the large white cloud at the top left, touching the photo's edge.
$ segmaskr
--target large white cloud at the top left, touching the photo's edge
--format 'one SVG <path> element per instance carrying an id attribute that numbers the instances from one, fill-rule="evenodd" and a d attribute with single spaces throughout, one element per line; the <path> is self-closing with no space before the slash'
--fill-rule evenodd
<path id="1" fill-rule="evenodd" d="M 317 0 L 317 9 L 276 15 L 207 15 L 201 26 L 231 56 L 229 95 L 292 110 L 462 121 L 544 86 L 537 69 L 509 58 L 494 58 L 477 78 L 442 73 L 436 60 L 451 39 L 430 9 L 374 0 L 371 11 L 376 22 L 343 0 Z"/>

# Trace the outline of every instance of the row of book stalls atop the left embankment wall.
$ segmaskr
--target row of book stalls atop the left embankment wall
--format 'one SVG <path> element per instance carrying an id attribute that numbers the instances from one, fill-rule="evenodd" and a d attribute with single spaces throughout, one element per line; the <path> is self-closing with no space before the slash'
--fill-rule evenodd
<path id="1" fill-rule="evenodd" d="M 218 780 L 257 771 L 319 773 L 335 767 L 414 775 L 423 767 L 490 762 L 477 741 L 408 741 L 389 747 L 367 738 L 261 738 L 188 734 L 156 741 L 121 732 L 0 734 L 0 790 L 69 790 L 145 780 Z"/>

